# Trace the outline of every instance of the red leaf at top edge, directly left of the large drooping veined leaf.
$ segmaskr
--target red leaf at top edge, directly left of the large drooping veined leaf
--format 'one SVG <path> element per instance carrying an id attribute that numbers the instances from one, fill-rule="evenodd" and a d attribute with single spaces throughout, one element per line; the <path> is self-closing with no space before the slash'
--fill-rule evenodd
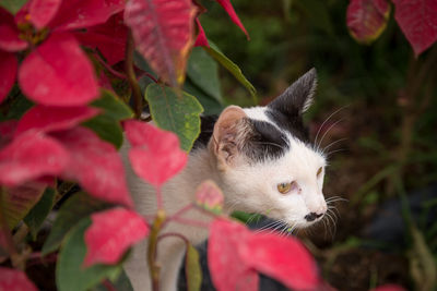
<path id="1" fill-rule="evenodd" d="M 126 0 L 63 0 L 49 26 L 71 31 L 105 23 L 125 8 Z"/>

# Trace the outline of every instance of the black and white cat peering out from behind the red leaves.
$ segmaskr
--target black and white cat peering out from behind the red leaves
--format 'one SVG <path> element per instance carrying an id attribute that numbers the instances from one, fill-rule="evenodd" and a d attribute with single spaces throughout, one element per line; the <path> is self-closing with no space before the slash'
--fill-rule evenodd
<path id="1" fill-rule="evenodd" d="M 213 180 L 224 193 L 225 214 L 234 210 L 267 214 L 290 228 L 306 228 L 327 211 L 322 193 L 326 157 L 309 141 L 303 114 L 312 104 L 317 73 L 311 69 L 265 107 L 228 106 L 218 118 L 203 118 L 202 133 L 190 151 L 186 168 L 162 189 L 168 215 L 194 202 L 199 184 Z M 129 166 L 129 145 L 121 148 L 128 184 L 137 210 L 156 213 L 155 192 Z M 211 217 L 191 210 L 187 219 L 203 222 Z M 208 229 L 168 223 L 163 233 L 182 233 L 193 245 L 208 238 Z M 161 290 L 177 290 L 185 242 L 167 237 L 160 241 Z M 146 240 L 138 244 L 125 264 L 135 291 L 151 290 Z"/>

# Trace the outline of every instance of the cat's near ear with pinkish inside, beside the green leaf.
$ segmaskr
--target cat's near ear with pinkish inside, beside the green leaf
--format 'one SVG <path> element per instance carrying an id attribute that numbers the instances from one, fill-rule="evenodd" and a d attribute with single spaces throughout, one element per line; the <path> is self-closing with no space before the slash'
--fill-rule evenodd
<path id="1" fill-rule="evenodd" d="M 223 110 L 210 141 L 210 148 L 222 168 L 235 163 L 247 133 L 247 116 L 240 107 L 229 106 Z"/>

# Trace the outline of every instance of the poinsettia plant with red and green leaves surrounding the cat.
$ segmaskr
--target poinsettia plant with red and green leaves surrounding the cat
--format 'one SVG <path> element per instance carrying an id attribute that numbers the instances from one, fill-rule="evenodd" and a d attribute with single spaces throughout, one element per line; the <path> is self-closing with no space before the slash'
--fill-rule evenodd
<path id="1" fill-rule="evenodd" d="M 231 1 L 216 2 L 249 38 Z M 395 4 L 400 11 L 406 5 Z M 258 272 L 292 289 L 329 288 L 297 239 L 253 233 L 221 215 L 223 196 L 210 181 L 199 187 L 197 202 L 176 215 L 167 217 L 162 207 L 161 186 L 185 167 L 200 132 L 203 107 L 197 93 L 222 101 L 216 63 L 256 96 L 238 66 L 208 40 L 201 3 L 21 0 L 0 5 L 0 290 L 36 290 L 26 265 L 49 259 L 57 262 L 59 290 L 115 284 L 132 245 L 149 237 L 153 250 L 161 227 L 193 208 L 215 218 L 211 226 L 198 223 L 211 231 L 209 267 L 217 290 L 257 290 Z M 381 31 L 387 11 L 383 0 L 352 1 L 353 35 L 367 39 Z M 401 27 L 415 25 L 402 24 L 404 19 L 399 12 Z M 435 41 L 435 27 L 421 31 L 426 41 L 405 33 L 416 54 Z M 161 129 L 146 123 L 151 119 Z M 123 131 L 133 170 L 156 189 L 153 218 L 134 210 L 118 154 Z M 81 191 L 73 193 L 75 184 Z M 33 250 L 29 242 L 61 199 L 42 250 Z M 187 250 L 187 262 L 197 266 L 196 250 L 188 243 Z M 149 264 L 156 278 L 152 254 Z M 198 290 L 199 277 L 188 278 L 190 290 Z"/>

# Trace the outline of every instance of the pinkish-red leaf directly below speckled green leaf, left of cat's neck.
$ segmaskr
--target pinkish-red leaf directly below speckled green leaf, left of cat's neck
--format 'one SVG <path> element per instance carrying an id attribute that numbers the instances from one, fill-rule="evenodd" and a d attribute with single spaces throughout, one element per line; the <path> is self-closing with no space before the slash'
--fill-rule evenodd
<path id="1" fill-rule="evenodd" d="M 161 186 L 185 167 L 188 157 L 176 134 L 135 120 L 125 121 L 125 130 L 132 169 L 149 183 Z"/>

